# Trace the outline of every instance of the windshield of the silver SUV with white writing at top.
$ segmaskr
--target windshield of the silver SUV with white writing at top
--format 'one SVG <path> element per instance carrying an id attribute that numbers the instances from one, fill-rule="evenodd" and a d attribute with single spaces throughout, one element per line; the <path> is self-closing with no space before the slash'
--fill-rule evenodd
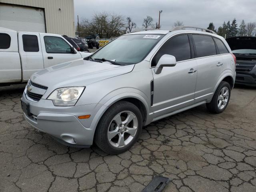
<path id="1" fill-rule="evenodd" d="M 163 35 L 129 34 L 120 36 L 92 55 L 92 59 L 114 60 L 120 64 L 141 62 Z"/>

